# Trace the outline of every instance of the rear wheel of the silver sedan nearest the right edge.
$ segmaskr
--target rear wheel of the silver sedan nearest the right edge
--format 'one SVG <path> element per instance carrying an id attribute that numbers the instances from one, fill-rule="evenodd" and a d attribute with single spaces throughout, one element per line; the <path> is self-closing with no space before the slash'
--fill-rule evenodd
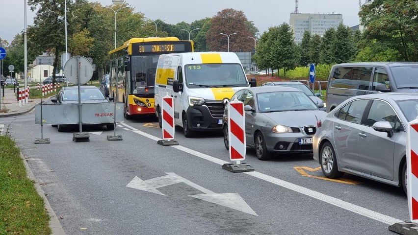
<path id="1" fill-rule="evenodd" d="M 335 179 L 340 178 L 343 173 L 338 171 L 337 157 L 330 142 L 324 143 L 320 152 L 322 173 L 325 177 Z"/>

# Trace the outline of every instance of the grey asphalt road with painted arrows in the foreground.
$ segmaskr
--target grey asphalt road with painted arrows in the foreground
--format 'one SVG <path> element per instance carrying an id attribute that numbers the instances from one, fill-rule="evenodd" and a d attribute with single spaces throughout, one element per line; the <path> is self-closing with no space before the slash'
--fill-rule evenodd
<path id="1" fill-rule="evenodd" d="M 90 141 L 74 142 L 78 128 L 43 126 L 51 143 L 34 144 L 41 138 L 34 119 L 29 113 L 0 124 L 67 235 L 390 235 L 388 226 L 409 218 L 401 188 L 350 175 L 325 180 L 312 154 L 259 161 L 247 148 L 255 172 L 232 173 L 221 167 L 229 162 L 221 132 L 184 138 L 176 128 L 180 145 L 161 146 L 149 117 L 118 124 L 123 141 L 107 141 L 113 131 L 105 127 L 83 128 Z"/>

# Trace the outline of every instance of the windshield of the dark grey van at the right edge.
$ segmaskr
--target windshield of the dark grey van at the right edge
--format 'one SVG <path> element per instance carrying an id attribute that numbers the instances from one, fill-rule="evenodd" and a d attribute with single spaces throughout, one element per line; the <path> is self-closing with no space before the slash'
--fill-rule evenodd
<path id="1" fill-rule="evenodd" d="M 391 70 L 397 88 L 418 87 L 418 66 L 398 66 Z"/>

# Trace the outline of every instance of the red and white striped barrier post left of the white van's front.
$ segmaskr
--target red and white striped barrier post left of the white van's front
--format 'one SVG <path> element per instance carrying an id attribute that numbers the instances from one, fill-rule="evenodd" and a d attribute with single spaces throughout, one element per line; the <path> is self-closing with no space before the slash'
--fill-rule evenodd
<path id="1" fill-rule="evenodd" d="M 173 97 L 164 96 L 162 97 L 162 139 L 163 140 L 173 140 L 174 139 L 174 107 L 173 107 Z"/>

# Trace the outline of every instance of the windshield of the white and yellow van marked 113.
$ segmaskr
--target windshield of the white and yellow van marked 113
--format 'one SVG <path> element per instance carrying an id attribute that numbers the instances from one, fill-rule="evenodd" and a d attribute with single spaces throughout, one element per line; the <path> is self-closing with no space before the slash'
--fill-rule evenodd
<path id="1" fill-rule="evenodd" d="M 246 87 L 247 77 L 240 64 L 185 65 L 185 84 L 190 88 Z"/>

